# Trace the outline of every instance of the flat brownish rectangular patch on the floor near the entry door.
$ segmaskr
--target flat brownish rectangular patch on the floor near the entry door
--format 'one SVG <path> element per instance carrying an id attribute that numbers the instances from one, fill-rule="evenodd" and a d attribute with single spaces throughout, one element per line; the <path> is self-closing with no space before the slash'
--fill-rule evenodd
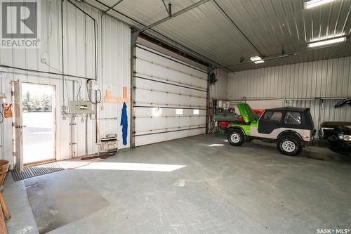
<path id="1" fill-rule="evenodd" d="M 39 233 L 48 233 L 110 205 L 74 170 L 29 178 L 25 187 Z"/>

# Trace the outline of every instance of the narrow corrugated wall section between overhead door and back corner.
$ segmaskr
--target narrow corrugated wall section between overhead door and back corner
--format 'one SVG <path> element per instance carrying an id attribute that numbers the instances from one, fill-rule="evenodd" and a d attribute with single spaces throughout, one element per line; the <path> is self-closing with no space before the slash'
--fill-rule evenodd
<path id="1" fill-rule="evenodd" d="M 213 100 L 227 100 L 228 72 L 223 69 L 216 69 L 218 81 L 210 85 L 209 97 Z"/>

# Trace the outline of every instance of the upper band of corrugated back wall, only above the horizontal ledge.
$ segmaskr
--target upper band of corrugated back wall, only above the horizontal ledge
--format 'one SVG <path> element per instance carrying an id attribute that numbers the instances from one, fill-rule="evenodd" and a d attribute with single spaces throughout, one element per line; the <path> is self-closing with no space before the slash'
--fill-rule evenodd
<path id="1" fill-rule="evenodd" d="M 230 73 L 228 99 L 351 96 L 351 57 Z"/>

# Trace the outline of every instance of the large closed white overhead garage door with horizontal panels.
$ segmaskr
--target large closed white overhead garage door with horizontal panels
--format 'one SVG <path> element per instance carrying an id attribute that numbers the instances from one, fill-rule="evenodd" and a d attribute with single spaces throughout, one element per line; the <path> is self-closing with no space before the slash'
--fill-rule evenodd
<path id="1" fill-rule="evenodd" d="M 204 134 L 206 71 L 141 45 L 134 62 L 134 145 Z"/>

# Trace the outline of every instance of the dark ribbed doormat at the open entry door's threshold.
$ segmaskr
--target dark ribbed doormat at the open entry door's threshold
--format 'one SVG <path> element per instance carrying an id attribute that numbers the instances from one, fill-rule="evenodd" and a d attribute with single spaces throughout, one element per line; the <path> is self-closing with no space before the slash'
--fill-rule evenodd
<path id="1" fill-rule="evenodd" d="M 42 176 L 45 174 L 51 174 L 56 171 L 65 170 L 57 162 L 48 162 L 44 164 L 37 164 L 30 167 L 24 167 L 23 171 L 20 172 L 18 169 L 13 169 L 11 171 L 12 178 L 14 181 L 24 180 L 26 178 L 32 178 L 35 176 Z"/>

